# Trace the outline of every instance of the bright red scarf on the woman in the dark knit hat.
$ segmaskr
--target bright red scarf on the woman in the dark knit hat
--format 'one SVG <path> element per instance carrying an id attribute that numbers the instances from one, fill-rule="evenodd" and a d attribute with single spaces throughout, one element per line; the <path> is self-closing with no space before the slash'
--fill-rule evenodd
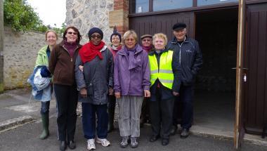
<path id="1" fill-rule="evenodd" d="M 96 56 L 100 58 L 100 60 L 103 60 L 103 56 L 100 53 L 100 50 L 105 46 L 105 43 L 103 41 L 100 41 L 100 44 L 98 46 L 93 45 L 93 42 L 89 42 L 82 46 L 81 50 L 79 51 L 79 56 L 82 59 L 82 63 L 90 62 Z"/>

